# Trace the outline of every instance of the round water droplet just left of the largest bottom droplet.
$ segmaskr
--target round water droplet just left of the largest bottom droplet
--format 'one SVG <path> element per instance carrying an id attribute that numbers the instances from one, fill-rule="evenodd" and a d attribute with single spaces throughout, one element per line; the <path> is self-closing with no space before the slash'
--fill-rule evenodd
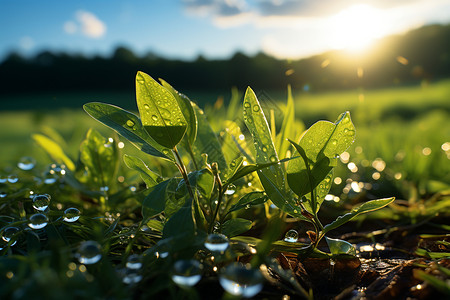
<path id="1" fill-rule="evenodd" d="M 202 278 L 202 270 L 196 260 L 179 260 L 173 265 L 172 280 L 181 287 L 194 286 Z"/>

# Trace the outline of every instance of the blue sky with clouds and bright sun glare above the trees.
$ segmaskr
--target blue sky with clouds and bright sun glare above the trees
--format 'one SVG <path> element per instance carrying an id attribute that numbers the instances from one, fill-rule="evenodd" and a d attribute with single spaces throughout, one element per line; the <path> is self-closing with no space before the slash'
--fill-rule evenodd
<path id="1" fill-rule="evenodd" d="M 450 0 L 0 0 L 0 60 L 12 51 L 302 58 L 450 23 Z"/>

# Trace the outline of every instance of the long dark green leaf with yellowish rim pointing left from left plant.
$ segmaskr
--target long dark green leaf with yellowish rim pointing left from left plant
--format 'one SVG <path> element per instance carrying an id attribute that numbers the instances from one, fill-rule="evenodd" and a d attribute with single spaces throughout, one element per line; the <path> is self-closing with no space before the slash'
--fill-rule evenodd
<path id="1" fill-rule="evenodd" d="M 170 149 L 153 140 L 136 115 L 120 107 L 100 102 L 87 103 L 83 108 L 91 117 L 113 129 L 142 152 L 175 161 Z"/>

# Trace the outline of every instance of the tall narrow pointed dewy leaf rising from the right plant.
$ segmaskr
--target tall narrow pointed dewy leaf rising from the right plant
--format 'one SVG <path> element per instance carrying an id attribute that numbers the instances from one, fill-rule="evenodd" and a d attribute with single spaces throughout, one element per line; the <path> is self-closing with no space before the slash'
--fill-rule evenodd
<path id="1" fill-rule="evenodd" d="M 253 137 L 256 163 L 278 162 L 278 155 L 272 141 L 269 125 L 251 88 L 247 89 L 244 97 L 244 122 Z M 286 191 L 284 172 L 280 164 L 261 169 L 258 176 L 270 200 L 278 208 L 288 213 L 294 211 L 294 203 Z"/>

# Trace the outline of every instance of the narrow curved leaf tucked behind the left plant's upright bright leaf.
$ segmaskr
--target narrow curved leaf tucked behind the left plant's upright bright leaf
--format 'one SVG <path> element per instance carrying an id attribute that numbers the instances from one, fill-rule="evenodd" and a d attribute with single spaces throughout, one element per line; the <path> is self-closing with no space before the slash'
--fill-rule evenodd
<path id="1" fill-rule="evenodd" d="M 187 121 L 186 137 L 188 143 L 190 145 L 193 145 L 195 139 L 197 138 L 197 116 L 195 115 L 191 100 L 189 100 L 189 98 L 186 95 L 181 94 L 180 92 L 175 90 L 165 80 L 160 78 L 159 81 L 161 82 L 162 86 L 165 87 L 169 92 L 171 92 L 172 95 L 177 100 L 181 112 L 183 113 L 183 116 Z"/>

